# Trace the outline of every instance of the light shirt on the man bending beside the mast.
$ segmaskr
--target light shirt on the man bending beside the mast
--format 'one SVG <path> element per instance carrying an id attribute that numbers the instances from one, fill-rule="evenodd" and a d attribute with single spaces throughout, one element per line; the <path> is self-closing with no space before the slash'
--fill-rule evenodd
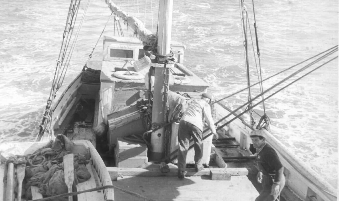
<path id="1" fill-rule="evenodd" d="M 212 133 L 217 133 L 214 126 L 214 121 L 212 118 L 211 107 L 202 99 L 194 100 L 190 106 L 184 112 L 184 115 L 181 117 L 181 120 L 187 121 L 188 123 L 193 124 L 203 131 L 203 119 L 211 129 Z"/>

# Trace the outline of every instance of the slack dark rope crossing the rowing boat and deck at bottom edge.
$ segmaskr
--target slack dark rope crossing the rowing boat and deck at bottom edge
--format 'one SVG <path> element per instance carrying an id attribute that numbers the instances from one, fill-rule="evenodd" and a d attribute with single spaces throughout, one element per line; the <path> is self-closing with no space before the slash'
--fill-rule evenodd
<path id="1" fill-rule="evenodd" d="M 93 191 L 101 191 L 101 190 L 108 189 L 108 188 L 114 188 L 114 189 L 117 189 L 117 190 L 119 190 L 119 191 L 122 191 L 122 192 L 124 192 L 124 193 L 129 194 L 129 195 L 132 195 L 132 196 L 134 196 L 134 197 L 144 199 L 144 200 L 146 200 L 146 201 L 156 201 L 156 200 L 154 200 L 154 199 L 152 199 L 152 198 L 144 197 L 144 196 L 142 196 L 142 195 L 139 195 L 139 194 L 134 193 L 134 192 L 132 192 L 132 191 L 125 190 L 125 189 L 120 188 L 120 187 L 115 186 L 115 185 L 100 186 L 100 187 L 88 189 L 88 190 L 85 190 L 85 191 L 79 191 L 79 192 L 73 192 L 73 193 L 65 193 L 65 194 L 61 194 L 61 195 L 57 195 L 57 196 L 52 196 L 52 197 L 49 197 L 49 198 L 37 199 L 37 200 L 35 200 L 35 201 L 54 200 L 54 199 L 57 199 L 57 198 L 70 197 L 70 196 L 75 196 L 75 195 L 79 195 L 79 194 L 82 194 L 82 193 L 88 193 L 88 192 L 93 192 Z"/>

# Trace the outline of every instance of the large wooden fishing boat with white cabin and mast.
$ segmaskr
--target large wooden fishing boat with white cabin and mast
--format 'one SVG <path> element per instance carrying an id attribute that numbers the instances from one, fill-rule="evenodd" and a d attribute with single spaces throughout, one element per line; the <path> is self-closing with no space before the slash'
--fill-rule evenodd
<path id="1" fill-rule="evenodd" d="M 90 66 L 86 62 L 83 71 L 56 102 L 54 94 L 59 83 L 53 83 L 52 98 L 47 102 L 36 141 L 66 135 L 76 144 L 86 144 L 97 157 L 97 152 L 93 151 L 95 148 L 105 163 L 104 166 L 103 161 L 96 158 L 100 168 L 95 170 L 101 184 L 111 185 L 109 182 L 113 182 L 113 187 L 119 189 L 114 191 L 114 197 L 107 197 L 106 193 L 107 200 L 255 200 L 261 187 L 256 181 L 255 157 L 249 151 L 249 134 L 253 127 L 223 102 L 215 104 L 220 139 L 215 141 L 209 132 L 204 132 L 205 169 L 197 173 L 194 168 L 188 168 L 187 179 L 177 179 L 178 124 L 170 122 L 161 126 L 166 122 L 163 97 L 170 96 L 171 92 L 166 92 L 169 89 L 180 97 L 200 98 L 209 86 L 183 65 L 185 46 L 171 41 L 173 2 L 160 1 L 158 51 L 166 55 L 172 49 L 176 58 L 175 63 L 166 64 L 166 68 L 161 62 L 149 64 L 145 60 L 147 50 L 142 42 L 150 33 L 143 29 L 142 23 L 128 17 L 112 1 L 106 3 L 117 18 L 134 28 L 138 38 L 105 36 L 102 64 Z M 75 7 L 72 1 L 70 13 Z M 71 30 L 67 26 L 65 30 Z M 149 65 L 153 67 L 154 80 Z M 149 90 L 152 87 L 147 87 L 152 82 L 153 94 Z M 168 83 L 168 88 L 164 83 Z M 151 95 L 152 104 L 149 101 Z M 173 100 L 167 101 L 171 105 Z M 156 127 L 151 127 L 154 123 Z M 151 133 L 151 138 L 147 132 Z M 274 136 L 267 134 L 265 138 L 277 151 L 284 166 L 286 184 L 280 200 L 337 200 L 336 191 L 330 184 L 307 168 Z M 46 142 L 28 144 L 42 146 Z M 28 148 L 20 153 L 26 150 Z M 194 164 L 192 149 L 187 163 L 188 167 L 193 167 L 190 166 Z M 132 193 L 126 194 L 122 189 Z M 113 190 L 109 191 L 113 193 Z"/>

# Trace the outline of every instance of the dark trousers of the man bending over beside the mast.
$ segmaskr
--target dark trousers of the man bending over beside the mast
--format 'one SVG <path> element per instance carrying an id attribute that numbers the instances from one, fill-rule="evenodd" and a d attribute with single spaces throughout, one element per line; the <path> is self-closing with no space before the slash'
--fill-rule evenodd
<path id="1" fill-rule="evenodd" d="M 185 171 L 186 169 L 186 156 L 188 148 L 190 147 L 191 137 L 194 139 L 194 161 L 197 167 L 201 167 L 203 150 L 202 131 L 187 121 L 180 121 L 178 131 L 178 169 L 181 171 Z"/>

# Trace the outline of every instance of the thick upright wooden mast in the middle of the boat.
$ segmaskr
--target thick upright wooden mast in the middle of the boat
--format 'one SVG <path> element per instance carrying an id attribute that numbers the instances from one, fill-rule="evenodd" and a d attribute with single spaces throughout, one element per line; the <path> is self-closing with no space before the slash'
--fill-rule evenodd
<path id="1" fill-rule="evenodd" d="M 172 32 L 172 10 L 173 0 L 160 0 L 159 4 L 159 28 L 158 28 L 158 54 L 170 53 L 171 32 Z M 155 67 L 155 83 L 153 94 L 152 123 L 162 123 L 166 121 L 166 98 L 168 91 L 169 65 L 152 64 Z M 167 86 L 165 86 L 167 85 Z M 159 161 L 164 157 L 165 130 L 161 128 L 151 135 L 151 145 L 153 150 L 149 155 L 151 161 Z"/>

